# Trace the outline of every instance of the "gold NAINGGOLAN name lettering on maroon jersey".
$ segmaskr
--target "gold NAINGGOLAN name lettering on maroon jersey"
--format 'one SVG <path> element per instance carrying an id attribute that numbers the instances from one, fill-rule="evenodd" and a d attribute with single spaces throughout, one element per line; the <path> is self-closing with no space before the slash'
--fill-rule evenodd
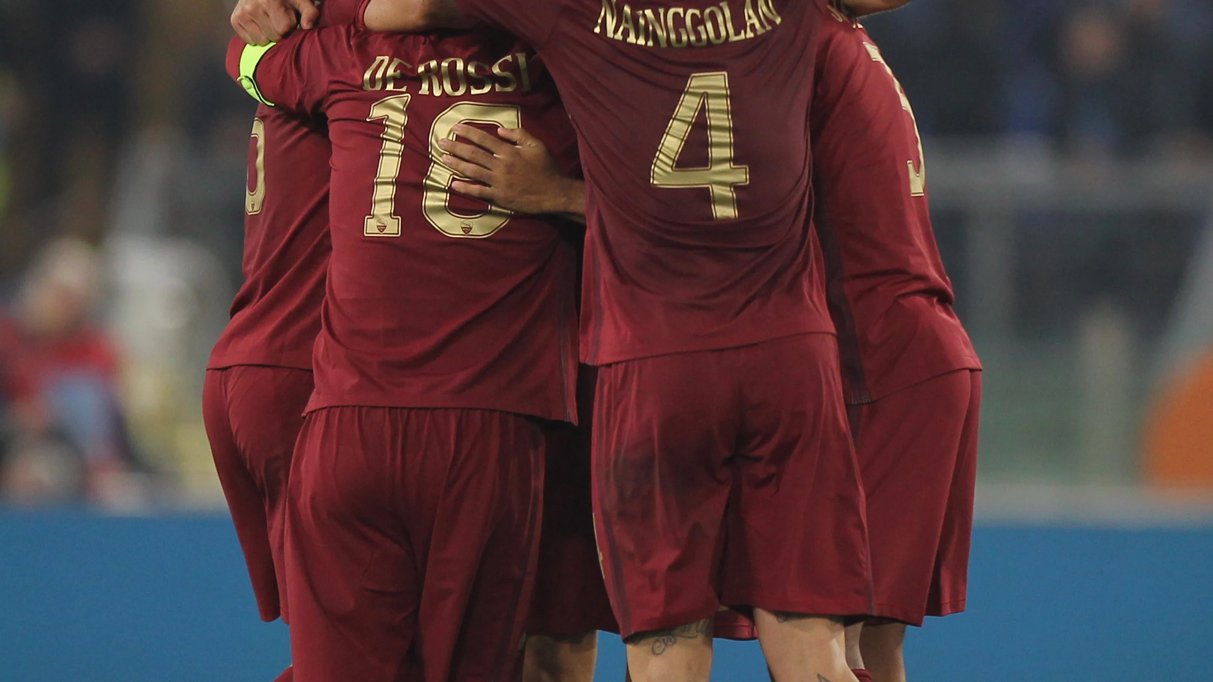
<path id="1" fill-rule="evenodd" d="M 773 0 L 723 0 L 707 8 L 649 7 L 603 0 L 594 33 L 645 47 L 707 47 L 748 40 L 771 30 L 782 17 Z"/>

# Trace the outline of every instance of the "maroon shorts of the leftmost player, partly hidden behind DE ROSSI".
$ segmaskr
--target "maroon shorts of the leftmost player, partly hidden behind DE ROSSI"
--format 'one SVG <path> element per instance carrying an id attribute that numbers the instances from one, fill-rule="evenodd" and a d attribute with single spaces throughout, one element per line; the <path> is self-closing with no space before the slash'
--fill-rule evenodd
<path id="1" fill-rule="evenodd" d="M 263 620 L 285 615 L 286 477 L 311 395 L 312 372 L 287 367 L 210 369 L 203 385 L 206 436 Z"/>

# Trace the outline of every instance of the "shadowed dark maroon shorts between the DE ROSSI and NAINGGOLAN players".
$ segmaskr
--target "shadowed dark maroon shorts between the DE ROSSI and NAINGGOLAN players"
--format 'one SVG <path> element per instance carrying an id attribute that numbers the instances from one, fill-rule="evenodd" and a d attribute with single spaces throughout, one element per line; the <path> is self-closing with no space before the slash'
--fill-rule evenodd
<path id="1" fill-rule="evenodd" d="M 590 428 L 597 371 L 577 377 L 580 426 L 552 431 L 543 481 L 543 533 L 526 632 L 560 637 L 591 630 L 619 632 L 606 598 L 590 500 Z"/>

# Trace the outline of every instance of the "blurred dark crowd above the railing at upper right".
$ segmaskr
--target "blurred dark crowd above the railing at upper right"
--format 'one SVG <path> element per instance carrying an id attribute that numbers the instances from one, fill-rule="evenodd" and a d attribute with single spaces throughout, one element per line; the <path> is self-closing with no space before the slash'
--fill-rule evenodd
<path id="1" fill-rule="evenodd" d="M 1211 0 L 919 0 L 870 24 L 924 134 L 1213 155 Z"/>

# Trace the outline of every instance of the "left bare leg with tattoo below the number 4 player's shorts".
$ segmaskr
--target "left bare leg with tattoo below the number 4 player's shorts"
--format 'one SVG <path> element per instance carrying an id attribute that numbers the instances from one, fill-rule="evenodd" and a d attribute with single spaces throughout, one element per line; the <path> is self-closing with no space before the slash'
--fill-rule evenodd
<path id="1" fill-rule="evenodd" d="M 627 638 L 633 682 L 707 682 L 712 672 L 712 618 L 637 632 Z"/>

